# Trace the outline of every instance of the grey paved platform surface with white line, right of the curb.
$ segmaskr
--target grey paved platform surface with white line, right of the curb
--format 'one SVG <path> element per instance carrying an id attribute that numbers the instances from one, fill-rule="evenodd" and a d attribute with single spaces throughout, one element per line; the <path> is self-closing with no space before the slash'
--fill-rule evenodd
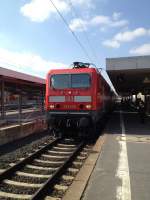
<path id="1" fill-rule="evenodd" d="M 150 199 L 150 119 L 136 112 L 115 112 L 106 141 L 82 200 Z"/>

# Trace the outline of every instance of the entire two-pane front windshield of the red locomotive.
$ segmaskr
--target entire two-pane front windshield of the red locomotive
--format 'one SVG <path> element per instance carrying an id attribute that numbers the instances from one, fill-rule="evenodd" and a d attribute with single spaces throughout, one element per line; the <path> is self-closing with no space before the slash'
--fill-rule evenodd
<path id="1" fill-rule="evenodd" d="M 90 74 L 57 74 L 51 77 L 51 86 L 55 89 L 89 88 Z"/>

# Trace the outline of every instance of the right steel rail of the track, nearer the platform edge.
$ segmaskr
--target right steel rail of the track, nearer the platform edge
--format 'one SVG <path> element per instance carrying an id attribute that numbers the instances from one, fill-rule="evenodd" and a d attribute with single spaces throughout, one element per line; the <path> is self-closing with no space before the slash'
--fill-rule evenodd
<path id="1" fill-rule="evenodd" d="M 31 197 L 31 200 L 44 199 L 48 192 L 53 190 L 54 185 L 61 177 L 67 167 L 73 162 L 78 153 L 84 147 L 85 143 L 81 142 L 71 156 L 64 162 L 64 164 L 46 181 L 46 183 Z"/>

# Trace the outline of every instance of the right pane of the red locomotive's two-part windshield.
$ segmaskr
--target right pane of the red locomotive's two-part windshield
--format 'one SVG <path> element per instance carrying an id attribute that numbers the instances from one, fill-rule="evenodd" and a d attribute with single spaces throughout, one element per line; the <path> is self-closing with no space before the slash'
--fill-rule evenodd
<path id="1" fill-rule="evenodd" d="M 71 87 L 72 88 L 88 88 L 91 85 L 89 74 L 72 74 Z"/>

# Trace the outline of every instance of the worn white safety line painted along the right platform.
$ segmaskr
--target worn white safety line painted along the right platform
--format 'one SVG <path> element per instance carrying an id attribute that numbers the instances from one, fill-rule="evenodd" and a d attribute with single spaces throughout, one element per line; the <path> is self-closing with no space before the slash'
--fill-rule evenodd
<path id="1" fill-rule="evenodd" d="M 120 154 L 119 154 L 116 176 L 119 179 L 121 179 L 122 185 L 117 187 L 116 199 L 131 200 L 131 186 L 130 186 L 127 144 L 126 144 L 125 125 L 122 112 L 120 112 L 120 126 L 122 128 L 122 137 L 124 138 L 124 141 L 119 141 Z"/>

